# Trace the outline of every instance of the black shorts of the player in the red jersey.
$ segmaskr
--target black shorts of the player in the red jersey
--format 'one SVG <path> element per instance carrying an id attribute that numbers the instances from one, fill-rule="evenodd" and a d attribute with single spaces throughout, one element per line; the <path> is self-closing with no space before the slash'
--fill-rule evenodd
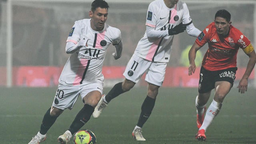
<path id="1" fill-rule="evenodd" d="M 206 93 L 215 88 L 215 82 L 226 81 L 230 82 L 233 86 L 236 78 L 237 67 L 228 68 L 225 70 L 209 71 L 201 66 L 200 79 L 199 79 L 199 93 Z"/>

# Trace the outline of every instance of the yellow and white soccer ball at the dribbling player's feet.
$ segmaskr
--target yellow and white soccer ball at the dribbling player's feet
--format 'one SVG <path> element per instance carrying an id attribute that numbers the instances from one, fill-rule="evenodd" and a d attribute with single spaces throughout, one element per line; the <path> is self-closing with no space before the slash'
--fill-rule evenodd
<path id="1" fill-rule="evenodd" d="M 96 144 L 96 136 L 90 130 L 79 130 L 74 135 L 74 144 Z"/>

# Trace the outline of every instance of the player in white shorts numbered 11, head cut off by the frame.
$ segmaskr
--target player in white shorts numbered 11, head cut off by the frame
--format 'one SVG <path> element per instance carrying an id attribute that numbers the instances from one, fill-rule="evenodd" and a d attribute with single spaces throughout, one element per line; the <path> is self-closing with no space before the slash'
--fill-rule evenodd
<path id="1" fill-rule="evenodd" d="M 167 62 L 170 60 L 174 35 L 186 30 L 190 36 L 198 36 L 185 2 L 179 0 L 155 0 L 148 6 L 146 32 L 124 71 L 125 79 L 116 84 L 98 103 L 93 113 L 98 118 L 102 110 L 116 96 L 130 90 L 146 72 L 148 92 L 141 107 L 141 114 L 132 136 L 144 141 L 142 126 L 148 120 L 156 101 L 158 88 L 162 86 Z"/>

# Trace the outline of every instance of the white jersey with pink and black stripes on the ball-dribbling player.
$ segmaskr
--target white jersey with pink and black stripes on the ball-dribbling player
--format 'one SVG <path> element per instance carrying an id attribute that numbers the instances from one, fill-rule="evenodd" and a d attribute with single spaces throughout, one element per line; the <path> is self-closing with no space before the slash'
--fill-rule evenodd
<path id="1" fill-rule="evenodd" d="M 75 22 L 67 42 L 78 44 L 80 40 L 86 41 L 68 58 L 59 78 L 61 84 L 73 86 L 84 81 L 103 81 L 102 66 L 106 50 L 110 44 L 121 41 L 121 32 L 106 23 L 102 31 L 94 31 L 90 19 L 83 19 Z"/>

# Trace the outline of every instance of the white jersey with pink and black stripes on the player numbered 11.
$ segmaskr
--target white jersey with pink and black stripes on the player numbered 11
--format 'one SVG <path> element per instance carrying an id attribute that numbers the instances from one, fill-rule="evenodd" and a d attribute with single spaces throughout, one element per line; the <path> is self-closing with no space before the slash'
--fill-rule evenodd
<path id="1" fill-rule="evenodd" d="M 146 26 L 155 30 L 168 30 L 181 22 L 192 23 L 186 3 L 179 1 L 173 8 L 168 8 L 164 0 L 155 0 L 149 4 Z M 174 36 L 148 38 L 145 32 L 134 54 L 149 61 L 169 62 L 173 38 Z"/>

